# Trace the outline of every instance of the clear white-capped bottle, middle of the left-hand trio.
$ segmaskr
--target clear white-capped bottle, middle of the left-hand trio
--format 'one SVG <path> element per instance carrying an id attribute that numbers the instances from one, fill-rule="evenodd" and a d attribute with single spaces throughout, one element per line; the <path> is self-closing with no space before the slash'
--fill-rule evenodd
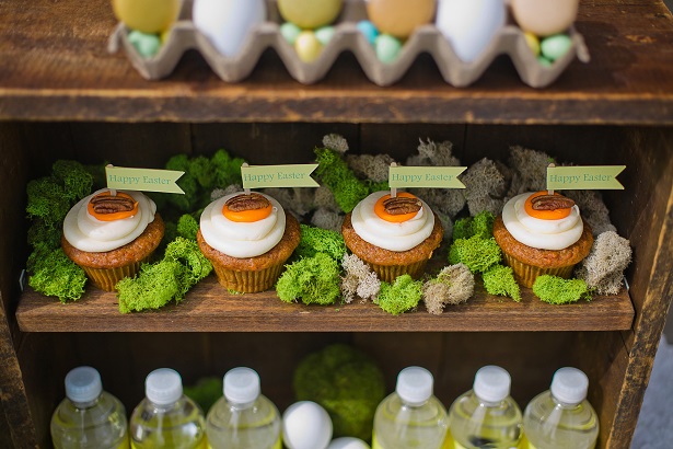
<path id="1" fill-rule="evenodd" d="M 206 448 L 204 412 L 183 394 L 176 371 L 160 368 L 150 372 L 144 394 L 131 414 L 131 448 Z"/>

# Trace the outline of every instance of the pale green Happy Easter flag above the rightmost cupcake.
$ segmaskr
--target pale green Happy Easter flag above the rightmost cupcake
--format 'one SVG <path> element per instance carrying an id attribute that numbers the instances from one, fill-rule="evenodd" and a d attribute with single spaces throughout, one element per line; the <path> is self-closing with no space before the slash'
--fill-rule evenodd
<path id="1" fill-rule="evenodd" d="M 624 186 L 616 176 L 626 165 L 594 166 L 549 166 L 547 169 L 547 189 L 613 189 L 623 191 Z"/>

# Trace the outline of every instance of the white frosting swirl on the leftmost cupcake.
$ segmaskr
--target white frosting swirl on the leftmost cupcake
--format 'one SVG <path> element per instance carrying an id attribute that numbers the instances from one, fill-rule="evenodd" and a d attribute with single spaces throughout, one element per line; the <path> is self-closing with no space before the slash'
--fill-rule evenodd
<path id="1" fill-rule="evenodd" d="M 63 237 L 80 251 L 102 253 L 116 250 L 136 240 L 154 221 L 156 205 L 142 192 L 123 192 L 138 202 L 138 214 L 113 221 L 102 221 L 89 214 L 89 202 L 102 188 L 76 204 L 63 220 Z M 119 191 L 121 192 L 121 191 Z"/>

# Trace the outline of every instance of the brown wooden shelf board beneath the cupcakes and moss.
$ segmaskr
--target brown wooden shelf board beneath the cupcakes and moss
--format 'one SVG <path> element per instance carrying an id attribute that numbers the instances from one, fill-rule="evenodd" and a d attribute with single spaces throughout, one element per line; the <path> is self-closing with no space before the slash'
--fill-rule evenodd
<path id="1" fill-rule="evenodd" d="M 565 306 L 544 303 L 530 289 L 522 290 L 522 301 L 514 302 L 479 286 L 466 303 L 448 306 L 441 315 L 420 306 L 393 316 L 371 302 L 304 306 L 282 302 L 274 291 L 230 295 L 211 275 L 179 304 L 128 314 L 119 313 L 115 293 L 96 288 L 67 304 L 28 289 L 16 320 L 24 332 L 626 331 L 634 321 L 624 289 L 618 296 Z"/>

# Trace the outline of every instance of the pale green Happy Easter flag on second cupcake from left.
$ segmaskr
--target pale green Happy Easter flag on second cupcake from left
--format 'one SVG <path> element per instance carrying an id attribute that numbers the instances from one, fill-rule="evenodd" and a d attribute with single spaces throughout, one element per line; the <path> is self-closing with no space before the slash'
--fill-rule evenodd
<path id="1" fill-rule="evenodd" d="M 243 165 L 243 188 L 320 187 L 311 177 L 316 163 L 294 165 Z"/>

